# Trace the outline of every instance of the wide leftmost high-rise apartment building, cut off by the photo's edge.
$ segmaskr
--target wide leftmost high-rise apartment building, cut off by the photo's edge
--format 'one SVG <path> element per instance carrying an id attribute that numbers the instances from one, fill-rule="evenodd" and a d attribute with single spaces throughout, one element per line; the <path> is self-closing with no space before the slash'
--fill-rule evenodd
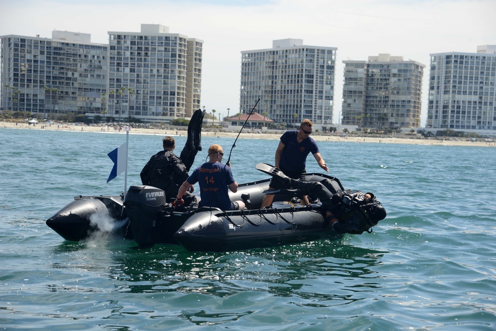
<path id="1" fill-rule="evenodd" d="M 89 34 L 68 31 L 53 31 L 52 39 L 0 38 L 2 109 L 44 118 L 103 110 L 108 45 L 91 43 Z"/>

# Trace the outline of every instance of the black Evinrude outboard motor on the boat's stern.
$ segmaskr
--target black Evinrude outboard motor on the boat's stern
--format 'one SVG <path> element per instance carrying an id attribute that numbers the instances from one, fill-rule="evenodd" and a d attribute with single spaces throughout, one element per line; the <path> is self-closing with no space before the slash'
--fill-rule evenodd
<path id="1" fill-rule="evenodd" d="M 131 186 L 124 197 L 126 214 L 130 217 L 130 227 L 138 245 L 154 244 L 153 234 L 156 218 L 167 203 L 165 192 L 153 186 Z"/>

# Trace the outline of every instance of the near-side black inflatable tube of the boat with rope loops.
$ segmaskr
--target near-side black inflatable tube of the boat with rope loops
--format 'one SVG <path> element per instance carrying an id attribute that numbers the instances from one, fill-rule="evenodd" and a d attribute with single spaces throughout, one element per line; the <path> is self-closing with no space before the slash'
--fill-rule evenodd
<path id="1" fill-rule="evenodd" d="M 174 235 L 184 248 L 195 252 L 239 251 L 342 237 L 325 224 L 320 206 L 294 208 L 278 202 L 274 209 L 197 213 Z"/>

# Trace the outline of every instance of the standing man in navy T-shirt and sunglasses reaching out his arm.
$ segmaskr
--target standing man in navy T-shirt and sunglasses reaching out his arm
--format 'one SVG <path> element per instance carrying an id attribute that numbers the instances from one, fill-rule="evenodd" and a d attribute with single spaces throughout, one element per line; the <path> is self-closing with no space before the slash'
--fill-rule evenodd
<path id="1" fill-rule="evenodd" d="M 290 130 L 283 133 L 281 141 L 276 149 L 276 168 L 281 169 L 284 175 L 292 179 L 304 180 L 306 175 L 306 157 L 312 153 L 319 167 L 329 172 L 319 147 L 315 140 L 310 137 L 313 123 L 308 119 L 301 121 L 298 130 Z M 273 178 L 269 184 L 269 190 L 282 188 L 278 178 Z M 274 199 L 273 195 L 266 195 L 262 201 L 261 209 L 270 206 Z M 300 197 L 301 204 L 308 204 L 308 197 Z"/>

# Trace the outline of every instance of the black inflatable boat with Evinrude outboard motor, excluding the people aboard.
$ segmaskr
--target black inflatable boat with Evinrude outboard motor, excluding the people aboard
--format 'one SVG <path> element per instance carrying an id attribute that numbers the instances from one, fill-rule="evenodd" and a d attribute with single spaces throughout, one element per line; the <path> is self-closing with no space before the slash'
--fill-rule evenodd
<path id="1" fill-rule="evenodd" d="M 332 181 L 337 191 L 344 190 L 336 178 L 307 176 L 312 181 L 323 179 Z M 166 203 L 162 190 L 131 186 L 124 198 L 75 197 L 49 218 L 47 225 L 68 241 L 88 240 L 95 232 L 110 231 L 118 237 L 134 239 L 141 247 L 179 244 L 199 252 L 238 251 L 343 237 L 343 233 L 325 221 L 320 202 L 292 205 L 287 202 L 291 200 L 291 192 L 276 194 L 273 208 L 259 209 L 269 182 L 266 179 L 240 184 L 238 192 L 230 194 L 231 200 L 243 200 L 247 210 L 222 211 L 210 207 L 181 210 Z M 95 224 L 94 218 L 107 218 L 114 226 L 102 228 Z"/>

